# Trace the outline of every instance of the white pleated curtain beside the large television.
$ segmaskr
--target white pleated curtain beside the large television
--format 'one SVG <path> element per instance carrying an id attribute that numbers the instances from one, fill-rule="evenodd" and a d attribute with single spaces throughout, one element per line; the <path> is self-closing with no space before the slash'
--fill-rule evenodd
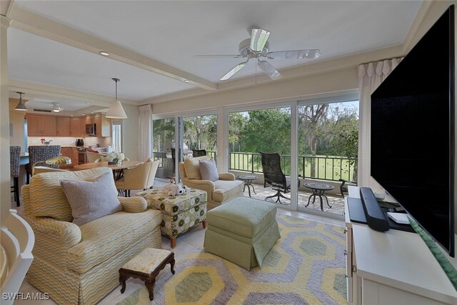
<path id="1" fill-rule="evenodd" d="M 358 66 L 358 90 L 360 92 L 358 186 L 371 186 L 371 94 L 398 66 L 401 59 L 403 57 Z"/>

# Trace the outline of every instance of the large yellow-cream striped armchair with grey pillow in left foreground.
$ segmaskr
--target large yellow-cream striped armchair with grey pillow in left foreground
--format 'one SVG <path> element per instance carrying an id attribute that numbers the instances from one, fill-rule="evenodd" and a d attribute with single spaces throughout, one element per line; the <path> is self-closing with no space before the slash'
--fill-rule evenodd
<path id="1" fill-rule="evenodd" d="M 72 223 L 61 180 L 94 179 L 111 169 L 37 174 L 22 186 L 24 218 L 35 234 L 27 280 L 58 304 L 96 304 L 119 285 L 119 268 L 147 247 L 161 248 L 160 211 L 141 197 L 118 197 L 122 211 Z"/>

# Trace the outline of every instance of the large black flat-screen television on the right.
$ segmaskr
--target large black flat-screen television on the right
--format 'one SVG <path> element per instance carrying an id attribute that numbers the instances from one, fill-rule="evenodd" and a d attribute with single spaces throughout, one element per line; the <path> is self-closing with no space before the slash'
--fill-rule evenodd
<path id="1" fill-rule="evenodd" d="M 371 94 L 371 176 L 454 256 L 454 8 Z"/>

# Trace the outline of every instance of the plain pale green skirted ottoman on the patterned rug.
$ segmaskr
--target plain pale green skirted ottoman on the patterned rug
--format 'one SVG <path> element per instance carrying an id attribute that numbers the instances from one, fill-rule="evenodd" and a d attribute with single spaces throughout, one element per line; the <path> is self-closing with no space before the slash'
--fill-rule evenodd
<path id="1" fill-rule="evenodd" d="M 206 221 L 205 251 L 248 270 L 261 267 L 281 238 L 276 206 L 266 201 L 238 197 L 209 211 Z"/>

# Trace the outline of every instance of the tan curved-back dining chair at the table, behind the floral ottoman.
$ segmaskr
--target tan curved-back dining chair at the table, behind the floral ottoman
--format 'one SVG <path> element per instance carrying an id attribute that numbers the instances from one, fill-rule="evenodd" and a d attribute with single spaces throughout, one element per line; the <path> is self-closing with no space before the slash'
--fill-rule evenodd
<path id="1" fill-rule="evenodd" d="M 124 177 L 116 181 L 116 189 L 124 190 L 126 197 L 130 197 L 132 189 L 151 189 L 159 162 L 148 160 L 133 169 L 124 169 Z"/>

